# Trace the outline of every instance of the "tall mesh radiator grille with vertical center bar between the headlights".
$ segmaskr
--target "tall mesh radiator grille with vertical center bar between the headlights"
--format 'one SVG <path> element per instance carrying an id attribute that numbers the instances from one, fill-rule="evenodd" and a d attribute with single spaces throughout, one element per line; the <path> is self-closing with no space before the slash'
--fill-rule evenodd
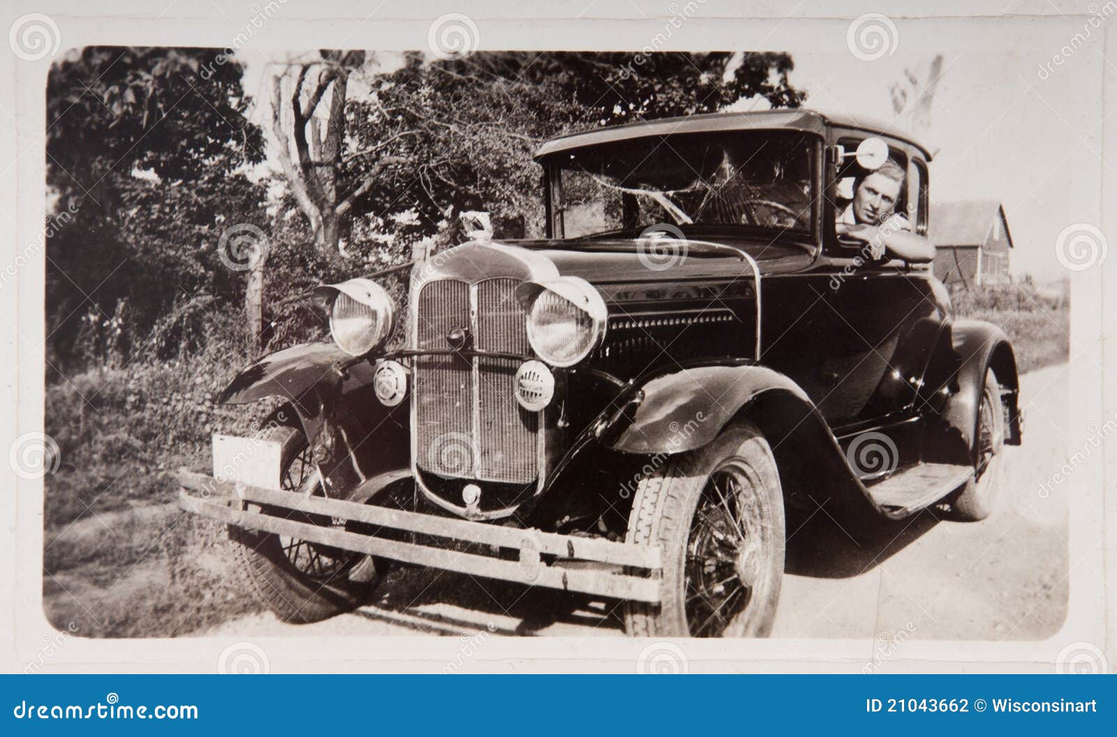
<path id="1" fill-rule="evenodd" d="M 480 351 L 527 353 L 516 279 L 476 286 L 442 279 L 417 300 L 418 347 L 446 350 L 446 334 L 469 328 Z M 476 306 L 475 314 L 471 308 Z M 449 478 L 526 484 L 538 473 L 538 417 L 513 394 L 515 358 L 420 356 L 416 360 L 416 462 Z"/>

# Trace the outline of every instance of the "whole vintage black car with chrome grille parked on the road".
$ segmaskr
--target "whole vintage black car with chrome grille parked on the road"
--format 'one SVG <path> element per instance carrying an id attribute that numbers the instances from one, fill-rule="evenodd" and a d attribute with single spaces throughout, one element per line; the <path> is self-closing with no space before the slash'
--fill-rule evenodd
<path id="1" fill-rule="evenodd" d="M 333 344 L 232 381 L 222 402 L 285 403 L 256 438 L 216 436 L 181 506 L 229 525 L 287 621 L 403 563 L 623 600 L 633 635 L 765 635 L 790 511 L 857 536 L 1002 496 L 1008 338 L 836 224 L 890 161 L 894 212 L 925 234 L 929 159 L 802 109 L 551 141 L 545 239 L 481 229 L 413 264 L 407 304 L 321 287 Z"/>

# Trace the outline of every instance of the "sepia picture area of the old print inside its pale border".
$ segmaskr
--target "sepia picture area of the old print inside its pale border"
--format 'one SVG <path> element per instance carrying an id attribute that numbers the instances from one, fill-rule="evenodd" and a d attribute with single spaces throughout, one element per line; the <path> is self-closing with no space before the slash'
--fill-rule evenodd
<path id="1" fill-rule="evenodd" d="M 668 48 L 687 8 L 630 50 L 464 13 L 408 51 L 60 50 L 49 622 L 860 639 L 868 672 L 1054 636 L 1117 429 L 1068 448 L 1099 27 Z"/>

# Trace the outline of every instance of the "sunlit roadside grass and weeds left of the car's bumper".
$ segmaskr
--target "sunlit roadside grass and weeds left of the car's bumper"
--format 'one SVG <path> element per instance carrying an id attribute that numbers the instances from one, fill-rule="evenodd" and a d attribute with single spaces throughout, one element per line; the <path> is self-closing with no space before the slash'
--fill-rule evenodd
<path id="1" fill-rule="evenodd" d="M 257 611 L 230 580 L 225 529 L 176 508 L 180 466 L 209 466 L 210 434 L 247 430 L 268 403 L 213 395 L 247 358 L 228 346 L 178 361 L 94 368 L 50 384 L 44 607 L 83 636 L 169 636 Z"/>

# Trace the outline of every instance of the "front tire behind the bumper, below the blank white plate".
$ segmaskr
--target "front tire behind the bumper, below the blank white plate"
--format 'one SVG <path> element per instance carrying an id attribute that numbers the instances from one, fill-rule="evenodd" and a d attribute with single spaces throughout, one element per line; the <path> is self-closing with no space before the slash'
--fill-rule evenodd
<path id="1" fill-rule="evenodd" d="M 268 423 L 257 437 L 280 443 L 280 476 L 284 488 L 294 492 L 306 471 L 296 470 L 296 466 L 308 459 L 302 428 Z M 315 492 L 321 494 L 321 489 L 318 482 Z M 298 513 L 288 516 L 299 521 L 308 519 Z M 352 611 L 380 582 L 370 568 L 372 559 L 360 553 L 233 526 L 229 527 L 229 539 L 235 544 L 237 570 L 248 591 L 284 622 L 307 624 Z"/>

